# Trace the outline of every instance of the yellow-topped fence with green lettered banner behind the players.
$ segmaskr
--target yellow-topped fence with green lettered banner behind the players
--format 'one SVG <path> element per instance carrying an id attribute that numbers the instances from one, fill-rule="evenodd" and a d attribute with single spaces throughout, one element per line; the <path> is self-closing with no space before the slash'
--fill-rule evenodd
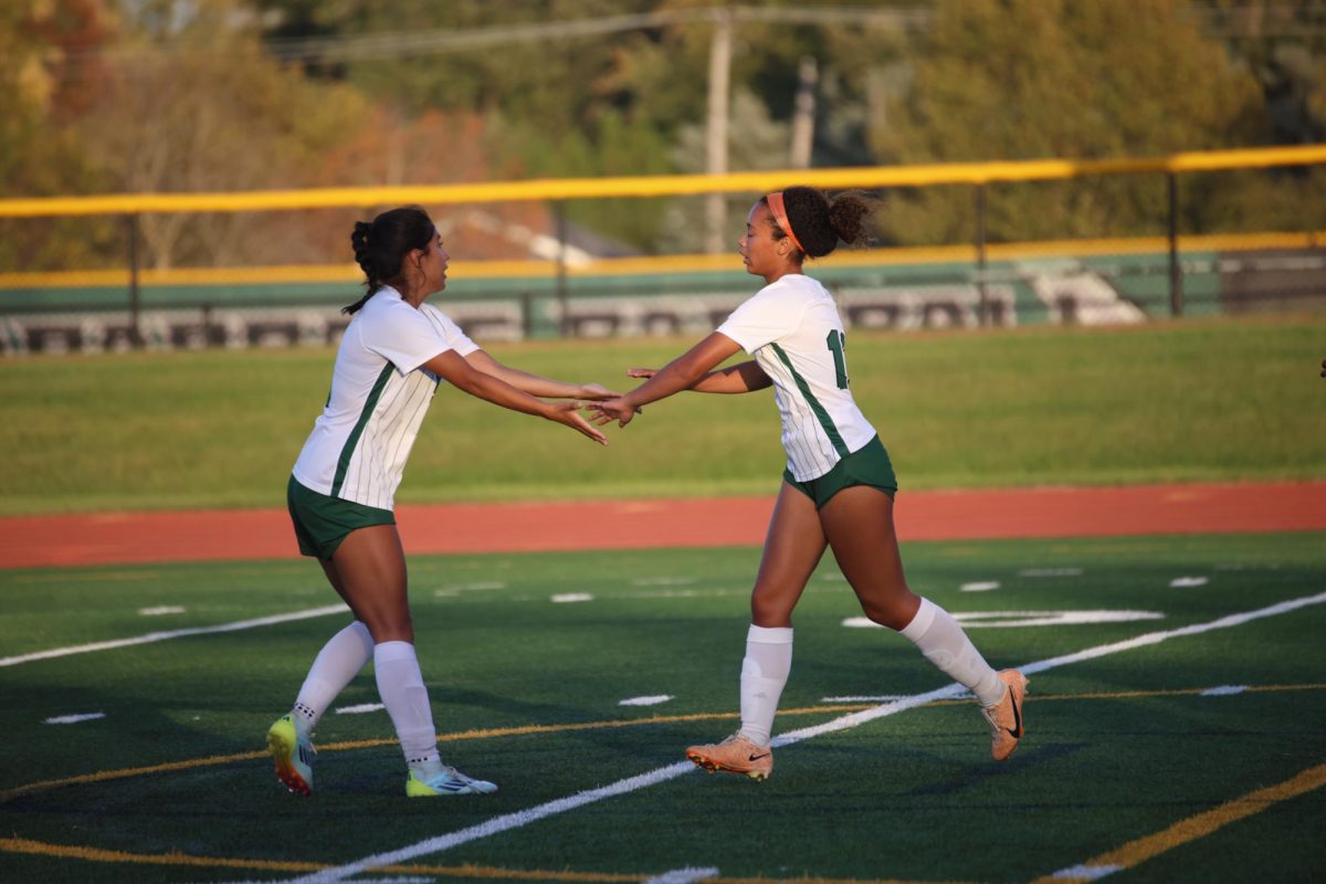
<path id="1" fill-rule="evenodd" d="M 0 351 L 317 343 L 334 341 L 343 329 L 335 306 L 357 297 L 353 265 L 145 269 L 137 260 L 137 220 L 149 213 L 507 201 L 550 203 L 561 212 L 569 200 L 760 193 L 789 180 L 830 190 L 972 190 L 971 243 L 838 254 L 818 270 L 847 322 L 859 327 L 1138 322 L 1266 304 L 1317 305 L 1326 300 L 1326 232 L 1180 236 L 1179 180 L 1319 164 L 1326 164 L 1326 144 L 1109 160 L 0 200 L 0 219 L 123 216 L 131 231 L 129 265 L 121 270 L 0 273 Z M 991 186 L 1107 175 L 1164 178 L 1166 236 L 987 241 Z M 448 310 L 471 333 L 497 339 L 684 334 L 712 329 L 749 294 L 731 256 L 572 261 L 569 254 L 564 241 L 545 261 L 456 261 Z"/>

